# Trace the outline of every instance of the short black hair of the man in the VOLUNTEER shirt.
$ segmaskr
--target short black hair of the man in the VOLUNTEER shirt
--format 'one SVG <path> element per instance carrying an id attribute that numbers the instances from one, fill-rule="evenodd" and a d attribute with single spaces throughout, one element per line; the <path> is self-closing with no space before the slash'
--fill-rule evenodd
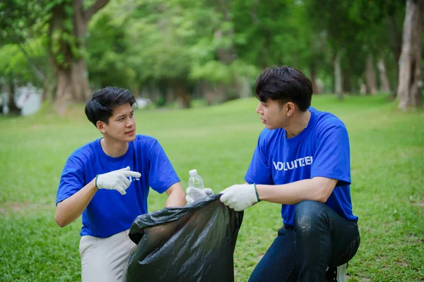
<path id="1" fill-rule="evenodd" d="M 311 106 L 312 82 L 302 72 L 289 66 L 266 68 L 255 83 L 255 95 L 261 102 L 277 100 L 281 105 L 293 102 L 300 111 Z"/>

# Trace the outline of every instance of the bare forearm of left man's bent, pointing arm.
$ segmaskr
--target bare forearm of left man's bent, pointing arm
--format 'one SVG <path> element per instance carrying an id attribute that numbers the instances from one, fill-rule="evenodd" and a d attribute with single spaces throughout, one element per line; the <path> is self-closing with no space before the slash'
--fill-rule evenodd
<path id="1" fill-rule="evenodd" d="M 56 207 L 56 214 L 54 215 L 54 220 L 57 225 L 64 227 L 78 219 L 91 199 L 93 199 L 97 190 L 98 188 L 95 187 L 95 179 L 93 179 L 74 195 L 59 202 Z"/>

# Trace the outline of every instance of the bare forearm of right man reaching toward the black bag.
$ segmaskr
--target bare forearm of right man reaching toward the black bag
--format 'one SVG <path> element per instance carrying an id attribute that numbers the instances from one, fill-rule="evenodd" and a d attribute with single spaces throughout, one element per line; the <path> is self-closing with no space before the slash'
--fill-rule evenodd
<path id="1" fill-rule="evenodd" d="M 326 202 L 336 180 L 312 178 L 283 185 L 257 185 L 259 199 L 278 204 L 298 204 L 304 200 Z"/>

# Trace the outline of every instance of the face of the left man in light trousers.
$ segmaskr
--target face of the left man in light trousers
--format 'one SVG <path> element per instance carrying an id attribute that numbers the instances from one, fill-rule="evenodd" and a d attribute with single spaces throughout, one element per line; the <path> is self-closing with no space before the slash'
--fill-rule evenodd
<path id="1" fill-rule="evenodd" d="M 123 104 L 114 109 L 109 118 L 109 123 L 102 123 L 101 131 L 105 134 L 105 137 L 117 141 L 134 141 L 136 139 L 136 121 L 131 106 Z"/>

